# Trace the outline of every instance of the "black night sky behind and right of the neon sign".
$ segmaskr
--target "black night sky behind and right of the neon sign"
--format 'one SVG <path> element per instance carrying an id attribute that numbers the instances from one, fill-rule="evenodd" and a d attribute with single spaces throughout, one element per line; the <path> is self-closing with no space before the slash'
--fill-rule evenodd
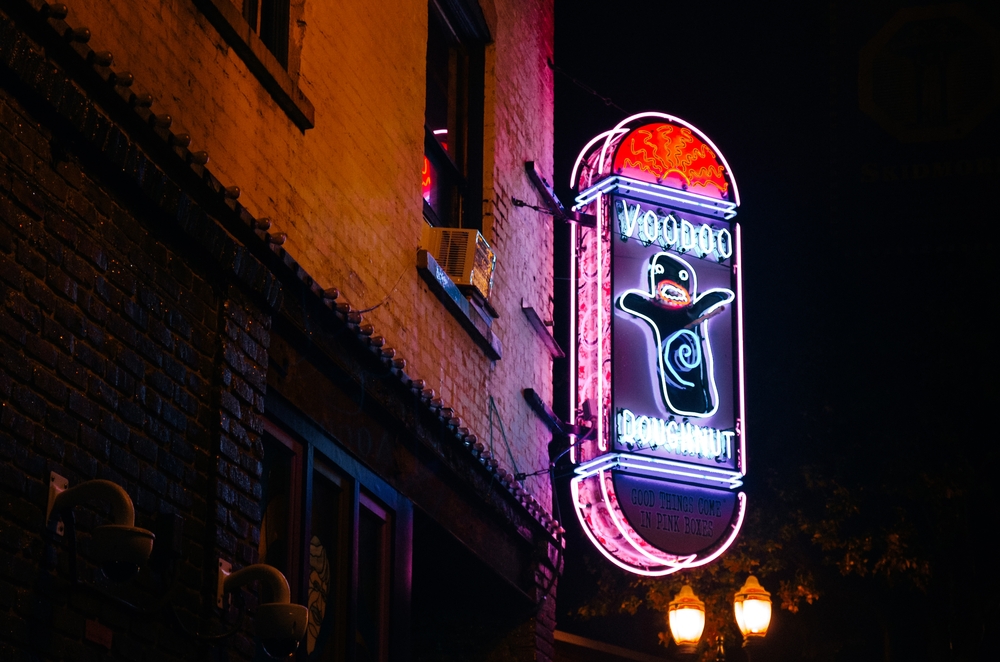
<path id="1" fill-rule="evenodd" d="M 1000 441 L 1000 8 L 910 10 L 894 23 L 905 7 L 557 0 L 551 178 L 568 203 L 580 148 L 636 112 L 684 118 L 719 146 L 743 203 L 749 507 L 764 480 L 773 490 L 806 466 L 856 490 L 895 486 L 886 507 L 916 529 L 961 529 L 936 548 L 932 574 L 961 620 L 956 610 L 996 602 L 985 486 Z M 962 491 L 976 512 L 931 523 L 919 497 L 891 502 L 921 481 Z M 585 581 L 571 556 L 571 581 Z M 586 591 L 560 593 L 566 613 Z M 968 640 L 962 654 L 915 646 L 913 659 L 976 659 L 970 642 L 996 628 L 989 609 L 969 626 L 979 634 L 954 635 Z M 622 623 L 560 627 L 656 650 L 655 633 Z M 918 641 L 911 627 L 897 638 Z M 901 655 L 869 643 L 861 657 Z"/>

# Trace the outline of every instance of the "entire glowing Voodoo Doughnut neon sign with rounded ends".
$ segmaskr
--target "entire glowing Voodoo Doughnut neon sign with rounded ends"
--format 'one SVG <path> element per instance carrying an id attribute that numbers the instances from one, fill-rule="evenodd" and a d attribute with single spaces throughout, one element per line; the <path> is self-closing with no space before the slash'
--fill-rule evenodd
<path id="1" fill-rule="evenodd" d="M 643 113 L 591 140 L 571 185 L 598 219 L 572 232 L 577 516 L 630 572 L 709 563 L 746 509 L 736 182 L 698 129 Z"/>

